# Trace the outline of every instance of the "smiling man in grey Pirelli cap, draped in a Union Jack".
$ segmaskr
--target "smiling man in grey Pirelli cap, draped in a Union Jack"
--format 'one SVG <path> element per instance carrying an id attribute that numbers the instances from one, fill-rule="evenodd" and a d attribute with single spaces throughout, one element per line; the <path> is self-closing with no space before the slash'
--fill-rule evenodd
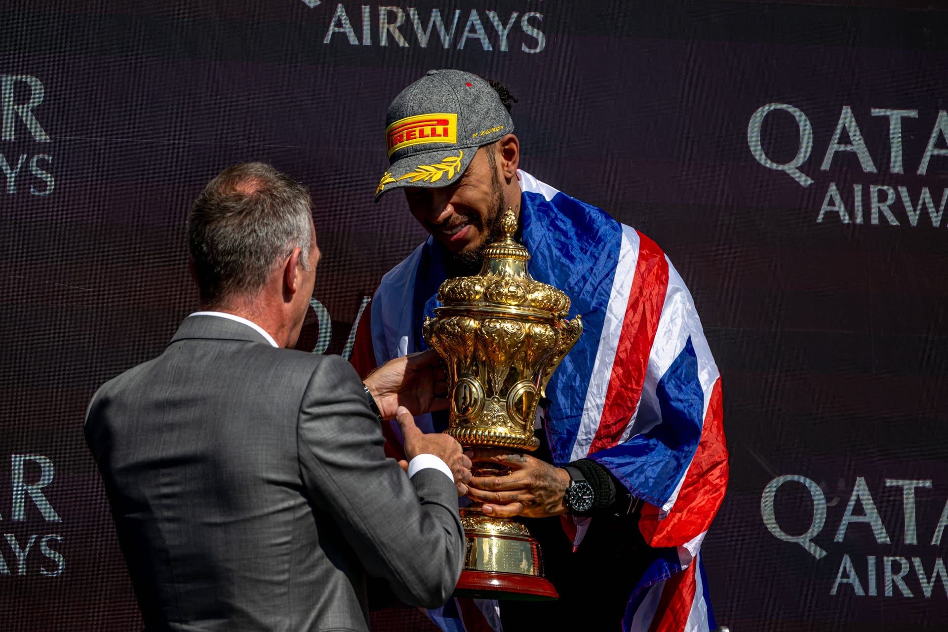
<path id="1" fill-rule="evenodd" d="M 479 271 L 483 248 L 501 236 L 501 210 L 514 208 L 531 274 L 572 298 L 569 317 L 581 315 L 584 332 L 546 388 L 537 452 L 472 454 L 512 469 L 471 479 L 468 496 L 488 515 L 524 518 L 560 595 L 501 602 L 502 623 L 712 630 L 699 549 L 728 469 L 720 375 L 701 321 L 658 245 L 519 170 L 510 99 L 476 75 L 432 70 L 392 101 L 390 166 L 375 199 L 404 190 L 430 236 L 382 279 L 353 362 L 365 374 L 424 350 L 422 322 L 439 304 L 438 286 Z M 417 423 L 438 432 L 447 416 Z M 396 429 L 385 431 L 397 454 Z M 495 605 L 463 602 L 455 600 L 457 618 L 500 627 Z"/>

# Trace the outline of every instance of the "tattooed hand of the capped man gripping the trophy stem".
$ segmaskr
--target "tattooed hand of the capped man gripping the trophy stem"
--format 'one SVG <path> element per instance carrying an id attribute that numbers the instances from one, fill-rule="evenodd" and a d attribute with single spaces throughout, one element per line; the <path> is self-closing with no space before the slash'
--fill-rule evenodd
<path id="1" fill-rule="evenodd" d="M 467 496 L 484 503 L 484 514 L 542 518 L 566 513 L 563 495 L 570 484 L 566 470 L 503 449 L 481 448 L 466 454 L 475 468 L 479 462 L 510 468 L 506 476 L 474 477 L 467 483 Z"/>

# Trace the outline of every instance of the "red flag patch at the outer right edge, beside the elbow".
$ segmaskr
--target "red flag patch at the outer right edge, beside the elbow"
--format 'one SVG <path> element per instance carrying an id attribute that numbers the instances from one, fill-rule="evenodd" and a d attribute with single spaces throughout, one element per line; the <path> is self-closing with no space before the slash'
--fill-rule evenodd
<path id="1" fill-rule="evenodd" d="M 718 514 L 728 478 L 727 443 L 724 441 L 722 419 L 723 404 L 718 378 L 704 414 L 702 439 L 684 474 L 684 483 L 675 506 L 664 520 L 658 519 L 658 507 L 646 504 L 642 509 L 639 531 L 649 546 L 681 546 L 707 531 Z"/>

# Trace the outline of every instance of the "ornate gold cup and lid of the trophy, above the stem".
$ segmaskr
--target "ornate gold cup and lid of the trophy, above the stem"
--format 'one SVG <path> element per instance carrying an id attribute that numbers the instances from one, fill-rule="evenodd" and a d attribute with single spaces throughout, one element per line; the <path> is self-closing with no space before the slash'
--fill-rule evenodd
<path id="1" fill-rule="evenodd" d="M 508 208 L 506 236 L 484 250 L 481 272 L 446 280 L 423 328 L 447 364 L 447 433 L 465 446 L 536 449 L 540 395 L 582 332 L 580 318 L 565 319 L 569 297 L 530 276 L 517 226 Z"/>

